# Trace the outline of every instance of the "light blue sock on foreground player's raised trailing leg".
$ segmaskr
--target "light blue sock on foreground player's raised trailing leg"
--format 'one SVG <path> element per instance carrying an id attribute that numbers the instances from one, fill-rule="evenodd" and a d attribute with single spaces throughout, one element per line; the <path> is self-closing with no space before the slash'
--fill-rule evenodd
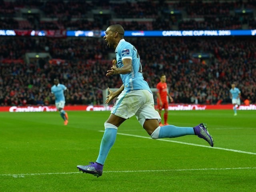
<path id="1" fill-rule="evenodd" d="M 159 138 L 174 138 L 184 135 L 194 135 L 192 127 L 176 127 L 174 125 L 166 125 L 160 128 Z"/>

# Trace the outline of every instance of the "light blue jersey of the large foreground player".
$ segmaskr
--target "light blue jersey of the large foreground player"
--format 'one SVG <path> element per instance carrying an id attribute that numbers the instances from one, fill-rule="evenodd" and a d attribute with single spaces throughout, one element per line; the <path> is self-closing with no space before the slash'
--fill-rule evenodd
<path id="1" fill-rule="evenodd" d="M 136 48 L 124 39 L 121 39 L 116 47 L 115 53 L 117 61 L 116 66 L 118 68 L 124 66 L 122 62 L 123 59 L 128 58 L 132 60 L 132 72 L 128 74 L 120 74 L 124 84 L 124 90 L 130 91 L 144 89 L 151 92 L 148 83 L 143 78 L 140 56 Z"/>

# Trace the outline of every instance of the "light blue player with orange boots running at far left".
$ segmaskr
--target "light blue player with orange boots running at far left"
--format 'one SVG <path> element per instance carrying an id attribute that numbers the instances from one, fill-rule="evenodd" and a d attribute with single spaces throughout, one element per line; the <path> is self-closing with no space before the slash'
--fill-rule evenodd
<path id="1" fill-rule="evenodd" d="M 64 125 L 68 124 L 68 114 L 65 112 L 65 96 L 64 91 L 67 90 L 67 87 L 59 83 L 58 79 L 54 79 L 54 86 L 51 88 L 51 93 L 55 95 L 55 106 L 60 112 L 60 116 L 64 119 Z"/>

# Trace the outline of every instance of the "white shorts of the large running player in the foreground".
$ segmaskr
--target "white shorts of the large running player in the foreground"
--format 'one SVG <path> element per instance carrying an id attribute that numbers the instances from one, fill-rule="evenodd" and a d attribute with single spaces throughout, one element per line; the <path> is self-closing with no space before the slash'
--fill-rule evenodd
<path id="1" fill-rule="evenodd" d="M 153 94 L 148 90 L 122 91 L 111 113 L 125 119 L 135 115 L 142 126 L 146 119 L 157 119 L 161 122 L 161 117 L 154 108 Z"/>

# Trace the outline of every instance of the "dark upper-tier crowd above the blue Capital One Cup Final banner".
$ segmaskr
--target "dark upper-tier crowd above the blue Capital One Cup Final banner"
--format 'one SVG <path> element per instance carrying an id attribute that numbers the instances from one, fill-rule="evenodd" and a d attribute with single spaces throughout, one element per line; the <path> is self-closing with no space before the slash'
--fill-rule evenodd
<path id="1" fill-rule="evenodd" d="M 255 28 L 256 25 L 253 15 L 253 10 L 256 8 L 254 0 L 228 2 L 95 0 L 93 3 L 84 0 L 17 0 L 15 2 L 0 0 L 0 3 L 1 29 L 98 30 L 105 25 L 115 23 L 116 18 L 129 30 L 242 29 Z M 24 9 L 37 9 L 38 13 L 28 14 L 21 11 Z M 92 10 L 109 10 L 109 12 L 102 13 L 103 15 L 92 14 Z M 20 13 L 25 21 L 16 20 Z M 109 19 L 104 19 L 106 17 Z M 147 21 L 138 19 L 147 19 Z M 24 25 L 24 22 L 27 24 Z"/>

